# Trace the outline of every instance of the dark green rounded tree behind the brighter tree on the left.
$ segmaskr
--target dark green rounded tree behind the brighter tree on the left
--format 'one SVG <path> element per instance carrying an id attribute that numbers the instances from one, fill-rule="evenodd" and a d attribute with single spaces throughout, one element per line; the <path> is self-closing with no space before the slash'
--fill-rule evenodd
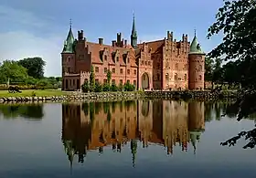
<path id="1" fill-rule="evenodd" d="M 18 64 L 27 68 L 28 76 L 35 79 L 42 79 L 44 77 L 44 67 L 46 62 L 42 58 L 24 58 L 18 61 Z"/>

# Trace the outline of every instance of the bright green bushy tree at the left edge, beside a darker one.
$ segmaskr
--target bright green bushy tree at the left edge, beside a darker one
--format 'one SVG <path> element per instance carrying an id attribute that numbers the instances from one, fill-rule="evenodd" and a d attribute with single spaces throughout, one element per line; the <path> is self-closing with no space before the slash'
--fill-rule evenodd
<path id="1" fill-rule="evenodd" d="M 7 82 L 10 79 L 10 82 L 25 82 L 28 78 L 27 68 L 24 68 L 16 61 L 5 60 L 3 65 L 0 67 L 0 80 L 1 82 Z"/>

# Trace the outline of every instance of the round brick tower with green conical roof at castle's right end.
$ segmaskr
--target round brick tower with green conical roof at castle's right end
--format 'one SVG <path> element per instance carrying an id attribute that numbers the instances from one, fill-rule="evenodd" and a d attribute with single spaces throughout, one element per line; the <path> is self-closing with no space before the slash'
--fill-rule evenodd
<path id="1" fill-rule="evenodd" d="M 190 45 L 188 53 L 188 89 L 204 89 L 205 86 L 205 57 L 200 44 L 197 41 L 197 35 Z"/>

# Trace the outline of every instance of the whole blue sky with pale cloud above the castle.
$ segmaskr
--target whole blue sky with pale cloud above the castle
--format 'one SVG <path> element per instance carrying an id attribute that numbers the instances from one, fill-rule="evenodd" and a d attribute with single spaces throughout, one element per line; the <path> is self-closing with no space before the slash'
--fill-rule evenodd
<path id="1" fill-rule="evenodd" d="M 208 52 L 222 40 L 206 38 L 222 5 L 222 0 L 1 0 L 0 62 L 41 57 L 47 62 L 45 75 L 60 76 L 70 18 L 75 37 L 82 29 L 87 40 L 103 37 L 111 44 L 118 32 L 130 41 L 133 12 L 138 42 L 163 39 L 167 30 L 176 40 L 187 34 L 191 41 L 197 29 L 198 41 Z"/>

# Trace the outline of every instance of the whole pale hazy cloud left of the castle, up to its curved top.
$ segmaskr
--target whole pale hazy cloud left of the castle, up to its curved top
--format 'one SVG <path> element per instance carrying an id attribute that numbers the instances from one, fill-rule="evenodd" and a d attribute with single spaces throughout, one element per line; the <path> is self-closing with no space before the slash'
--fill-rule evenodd
<path id="1" fill-rule="evenodd" d="M 60 52 L 67 32 L 50 31 L 48 26 L 53 25 L 47 18 L 3 5 L 0 5 L 0 21 L 5 24 L 0 29 L 0 61 L 41 57 L 47 62 L 46 76 L 61 75 Z M 38 28 L 46 33 L 38 32 Z"/>

